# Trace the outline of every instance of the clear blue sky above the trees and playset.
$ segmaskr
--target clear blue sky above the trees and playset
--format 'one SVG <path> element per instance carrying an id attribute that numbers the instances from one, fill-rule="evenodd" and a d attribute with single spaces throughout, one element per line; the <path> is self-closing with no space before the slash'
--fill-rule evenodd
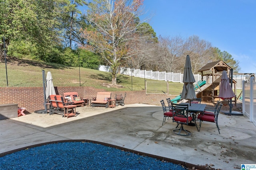
<path id="1" fill-rule="evenodd" d="M 157 36 L 197 35 L 256 73 L 256 0 L 144 0 Z"/>

